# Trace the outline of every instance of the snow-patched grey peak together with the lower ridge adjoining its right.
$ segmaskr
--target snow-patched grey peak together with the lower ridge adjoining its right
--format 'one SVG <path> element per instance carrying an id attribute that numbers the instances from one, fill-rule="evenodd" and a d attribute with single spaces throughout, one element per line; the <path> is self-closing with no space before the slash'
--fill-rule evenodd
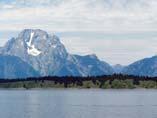
<path id="1" fill-rule="evenodd" d="M 112 74 L 112 67 L 94 55 L 69 54 L 56 35 L 40 29 L 25 29 L 1 49 L 3 55 L 13 55 L 31 65 L 41 76 Z"/>

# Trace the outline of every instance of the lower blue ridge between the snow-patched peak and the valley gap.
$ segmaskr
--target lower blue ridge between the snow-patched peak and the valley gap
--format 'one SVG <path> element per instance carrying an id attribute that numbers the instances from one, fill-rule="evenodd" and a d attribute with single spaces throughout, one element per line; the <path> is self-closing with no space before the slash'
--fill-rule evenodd
<path id="1" fill-rule="evenodd" d="M 112 67 L 106 62 L 100 61 L 95 55 L 68 55 L 64 66 L 56 75 L 96 76 L 113 74 Z"/>

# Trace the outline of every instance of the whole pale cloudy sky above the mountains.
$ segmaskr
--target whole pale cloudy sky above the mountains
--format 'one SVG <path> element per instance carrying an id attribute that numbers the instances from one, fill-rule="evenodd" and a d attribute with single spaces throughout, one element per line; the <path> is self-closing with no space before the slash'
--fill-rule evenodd
<path id="1" fill-rule="evenodd" d="M 128 65 L 157 54 L 157 0 L 0 0 L 0 46 L 23 29 L 56 34 L 72 54 Z"/>

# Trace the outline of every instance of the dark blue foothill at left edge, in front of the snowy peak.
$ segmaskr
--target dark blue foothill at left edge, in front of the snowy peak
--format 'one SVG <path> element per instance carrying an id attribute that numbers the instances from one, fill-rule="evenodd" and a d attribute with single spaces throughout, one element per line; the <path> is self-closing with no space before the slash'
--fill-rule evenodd
<path id="1" fill-rule="evenodd" d="M 20 58 L 0 55 L 0 78 L 36 77 L 39 73 Z"/>

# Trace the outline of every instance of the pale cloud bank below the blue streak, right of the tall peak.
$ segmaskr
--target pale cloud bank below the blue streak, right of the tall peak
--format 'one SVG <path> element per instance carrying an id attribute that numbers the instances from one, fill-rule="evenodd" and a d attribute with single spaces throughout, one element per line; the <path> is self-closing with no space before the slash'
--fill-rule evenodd
<path id="1" fill-rule="evenodd" d="M 112 65 L 128 65 L 136 60 L 157 54 L 157 43 L 155 43 L 157 42 L 157 35 L 155 33 L 145 34 L 145 38 L 142 34 L 136 33 L 99 35 L 101 36 L 97 37 L 97 35 L 92 34 L 91 36 L 61 35 L 60 37 L 70 53 L 81 55 L 95 53 L 101 60 Z"/>

